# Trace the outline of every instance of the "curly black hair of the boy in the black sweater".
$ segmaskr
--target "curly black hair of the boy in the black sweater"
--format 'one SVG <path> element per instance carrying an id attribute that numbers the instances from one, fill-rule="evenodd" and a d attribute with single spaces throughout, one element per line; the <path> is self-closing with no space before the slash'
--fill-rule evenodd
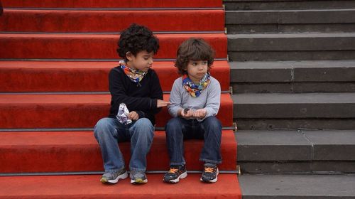
<path id="1" fill-rule="evenodd" d="M 117 44 L 119 47 L 117 48 L 117 53 L 126 61 L 128 61 L 126 58 L 127 52 L 131 52 L 136 56 L 142 50 L 146 50 L 148 53 L 153 51 L 156 54 L 159 49 L 159 40 L 153 36 L 152 31 L 146 26 L 136 23 L 132 23 L 129 28 L 122 31 Z"/>

